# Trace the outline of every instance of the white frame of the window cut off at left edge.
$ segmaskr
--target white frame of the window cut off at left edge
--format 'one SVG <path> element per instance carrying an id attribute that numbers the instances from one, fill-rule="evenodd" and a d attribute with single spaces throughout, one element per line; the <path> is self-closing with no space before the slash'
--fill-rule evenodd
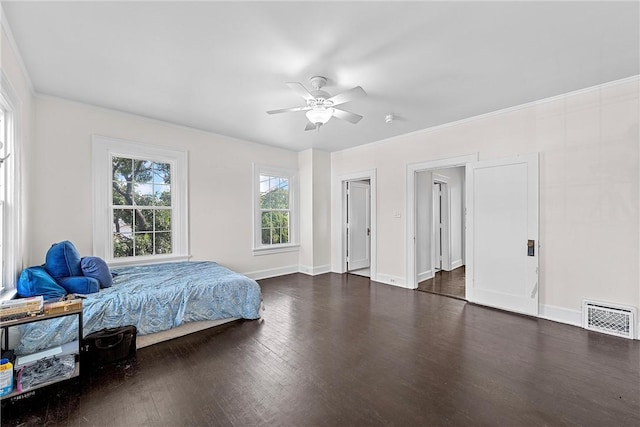
<path id="1" fill-rule="evenodd" d="M 5 153 L 9 157 L 0 167 L 5 177 L 3 203 L 3 251 L 2 283 L 0 299 L 8 299 L 16 293 L 16 283 L 22 271 L 22 168 L 21 168 L 21 102 L 4 70 L 0 69 L 0 103 L 5 110 L 7 138 Z M 6 155 L 6 154 L 5 154 Z"/>

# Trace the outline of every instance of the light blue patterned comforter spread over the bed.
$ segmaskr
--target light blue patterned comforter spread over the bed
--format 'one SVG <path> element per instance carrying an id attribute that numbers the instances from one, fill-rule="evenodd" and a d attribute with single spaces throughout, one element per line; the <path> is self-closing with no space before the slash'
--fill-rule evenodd
<path id="1" fill-rule="evenodd" d="M 230 317 L 258 319 L 261 291 L 255 280 L 215 262 L 179 262 L 113 268 L 113 286 L 83 301 L 84 335 L 135 325 L 138 335 L 185 322 Z M 16 354 L 77 340 L 77 316 L 20 326 Z"/>

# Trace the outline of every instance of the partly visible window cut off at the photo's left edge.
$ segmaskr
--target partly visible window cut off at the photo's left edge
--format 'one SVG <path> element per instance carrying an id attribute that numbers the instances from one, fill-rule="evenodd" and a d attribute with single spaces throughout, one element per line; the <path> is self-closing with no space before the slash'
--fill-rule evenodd
<path id="1" fill-rule="evenodd" d="M 19 99 L 0 70 L 0 293 L 15 292 L 22 270 Z"/>

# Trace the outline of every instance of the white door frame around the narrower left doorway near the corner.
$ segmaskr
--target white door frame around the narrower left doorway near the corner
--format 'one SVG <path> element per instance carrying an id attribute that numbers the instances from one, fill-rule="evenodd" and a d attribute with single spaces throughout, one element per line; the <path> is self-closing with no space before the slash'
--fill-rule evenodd
<path id="1" fill-rule="evenodd" d="M 377 280 L 378 245 L 377 245 L 377 179 L 376 169 L 360 172 L 352 172 L 338 175 L 333 181 L 333 194 L 336 209 L 332 222 L 333 236 L 340 236 L 338 244 L 334 244 L 335 255 L 332 262 L 332 271 L 336 273 L 347 272 L 347 182 L 369 180 L 370 185 L 370 214 L 371 214 L 371 265 L 369 267 L 370 279 Z M 337 199 L 337 200 L 336 200 Z"/>

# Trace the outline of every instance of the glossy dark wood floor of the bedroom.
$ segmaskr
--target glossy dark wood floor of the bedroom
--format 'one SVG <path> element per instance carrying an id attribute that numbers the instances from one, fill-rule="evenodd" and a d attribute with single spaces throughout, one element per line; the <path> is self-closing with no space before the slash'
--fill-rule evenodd
<path id="1" fill-rule="evenodd" d="M 354 275 L 8 405 L 3 426 L 638 426 L 640 342 Z"/>

